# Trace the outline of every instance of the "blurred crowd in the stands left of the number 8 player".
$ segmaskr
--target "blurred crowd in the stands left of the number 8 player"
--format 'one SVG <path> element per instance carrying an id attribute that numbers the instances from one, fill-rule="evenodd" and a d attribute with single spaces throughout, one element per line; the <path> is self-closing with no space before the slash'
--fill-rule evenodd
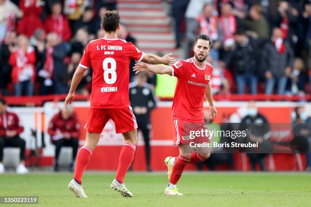
<path id="1" fill-rule="evenodd" d="M 1 94 L 67 93 L 84 47 L 104 35 L 101 15 L 116 6 L 114 0 L 0 0 Z M 84 74 L 78 93 L 89 94 L 91 75 Z"/>

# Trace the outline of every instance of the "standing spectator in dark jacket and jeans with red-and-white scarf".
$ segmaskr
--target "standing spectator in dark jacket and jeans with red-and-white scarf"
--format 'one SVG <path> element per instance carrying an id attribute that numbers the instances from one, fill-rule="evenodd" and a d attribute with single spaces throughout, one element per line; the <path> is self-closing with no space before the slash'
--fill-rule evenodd
<path id="1" fill-rule="evenodd" d="M 263 70 L 266 78 L 266 94 L 273 92 L 277 83 L 277 93 L 285 94 L 287 79 L 291 74 L 294 54 L 291 46 L 283 39 L 280 28 L 273 30 L 273 36 L 263 50 Z"/>

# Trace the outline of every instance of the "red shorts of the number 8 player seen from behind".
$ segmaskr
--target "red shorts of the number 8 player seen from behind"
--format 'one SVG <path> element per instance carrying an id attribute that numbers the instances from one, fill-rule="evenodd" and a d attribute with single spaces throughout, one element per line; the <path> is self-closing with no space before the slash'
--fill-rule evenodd
<path id="1" fill-rule="evenodd" d="M 102 133 L 106 123 L 112 119 L 116 133 L 137 129 L 136 118 L 132 107 L 120 109 L 90 108 L 84 129 L 91 133 Z"/>

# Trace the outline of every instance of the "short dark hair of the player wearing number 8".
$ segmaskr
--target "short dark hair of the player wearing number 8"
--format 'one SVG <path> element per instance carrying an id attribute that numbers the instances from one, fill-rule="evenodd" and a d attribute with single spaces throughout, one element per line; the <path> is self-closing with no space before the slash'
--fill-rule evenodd
<path id="1" fill-rule="evenodd" d="M 102 16 L 102 24 L 104 26 L 104 30 L 107 32 L 116 31 L 119 23 L 120 23 L 120 16 L 119 12 L 116 10 L 107 11 Z"/>

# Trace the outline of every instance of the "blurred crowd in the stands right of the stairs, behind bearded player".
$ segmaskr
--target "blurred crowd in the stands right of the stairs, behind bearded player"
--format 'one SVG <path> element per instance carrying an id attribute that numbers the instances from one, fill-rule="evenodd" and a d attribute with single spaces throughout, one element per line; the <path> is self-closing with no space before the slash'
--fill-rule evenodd
<path id="1" fill-rule="evenodd" d="M 311 82 L 311 1 L 168 0 L 176 47 L 193 55 L 198 33 L 213 41 L 213 92 L 303 95 Z M 183 41 L 184 40 L 184 41 Z"/>

